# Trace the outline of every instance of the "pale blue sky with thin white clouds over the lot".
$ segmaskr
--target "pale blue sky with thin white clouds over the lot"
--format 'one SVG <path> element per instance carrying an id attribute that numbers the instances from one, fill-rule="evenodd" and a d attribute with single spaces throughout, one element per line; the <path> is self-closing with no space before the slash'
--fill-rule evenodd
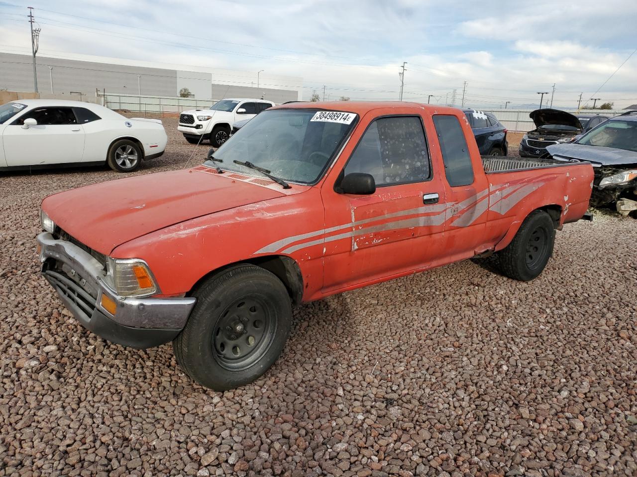
<path id="1" fill-rule="evenodd" d="M 29 0 L 40 52 L 302 76 L 304 97 L 471 107 L 637 103 L 634 0 Z M 27 3 L 0 0 L 0 48 L 30 52 Z M 0 66 L 3 67 L 3 66 Z M 612 78 L 608 80 L 611 76 Z M 608 82 L 605 83 L 605 81 Z M 603 85 L 603 86 L 602 86 Z M 598 88 L 601 89 L 597 92 Z M 548 95 L 550 101 L 550 93 Z M 545 100 L 547 97 L 545 96 Z M 592 104 L 592 102 L 590 102 Z M 600 101 L 598 101 L 598 105 Z"/>

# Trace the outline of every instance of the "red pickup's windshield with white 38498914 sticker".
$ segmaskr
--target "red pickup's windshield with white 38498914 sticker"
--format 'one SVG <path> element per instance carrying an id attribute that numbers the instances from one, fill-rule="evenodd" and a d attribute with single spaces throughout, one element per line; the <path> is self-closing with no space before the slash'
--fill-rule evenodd
<path id="1" fill-rule="evenodd" d="M 317 181 L 356 123 L 357 115 L 316 109 L 272 109 L 250 120 L 215 153 L 222 169 L 254 174 L 250 162 L 285 181 Z M 217 167 L 215 163 L 214 167 Z"/>

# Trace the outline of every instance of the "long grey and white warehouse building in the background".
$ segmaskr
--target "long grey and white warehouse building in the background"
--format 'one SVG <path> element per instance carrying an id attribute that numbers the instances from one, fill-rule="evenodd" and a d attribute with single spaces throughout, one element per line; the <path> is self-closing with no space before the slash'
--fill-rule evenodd
<path id="1" fill-rule="evenodd" d="M 137 95 L 176 97 L 183 88 L 190 98 L 264 97 L 276 103 L 301 100 L 303 78 L 267 71 L 177 66 L 140 60 L 89 55 L 73 59 L 39 54 L 36 57 L 38 91 L 57 95 Z M 31 55 L 0 51 L 0 90 L 32 92 Z"/>

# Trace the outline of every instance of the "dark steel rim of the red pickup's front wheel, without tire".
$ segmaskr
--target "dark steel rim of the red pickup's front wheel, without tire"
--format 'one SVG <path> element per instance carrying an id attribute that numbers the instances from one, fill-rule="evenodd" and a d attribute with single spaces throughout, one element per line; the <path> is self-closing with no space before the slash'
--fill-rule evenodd
<path id="1" fill-rule="evenodd" d="M 213 356 L 226 370 L 245 370 L 268 352 L 275 334 L 275 314 L 268 303 L 242 297 L 224 309 L 213 329 Z"/>

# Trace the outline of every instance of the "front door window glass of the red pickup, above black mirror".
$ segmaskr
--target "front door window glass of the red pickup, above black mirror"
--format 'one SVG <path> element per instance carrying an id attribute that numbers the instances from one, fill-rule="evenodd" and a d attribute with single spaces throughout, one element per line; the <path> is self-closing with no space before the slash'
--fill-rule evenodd
<path id="1" fill-rule="evenodd" d="M 371 174 L 376 187 L 429 179 L 429 153 L 420 118 L 379 118 L 371 123 L 345 165 L 345 175 L 350 172 Z"/>

